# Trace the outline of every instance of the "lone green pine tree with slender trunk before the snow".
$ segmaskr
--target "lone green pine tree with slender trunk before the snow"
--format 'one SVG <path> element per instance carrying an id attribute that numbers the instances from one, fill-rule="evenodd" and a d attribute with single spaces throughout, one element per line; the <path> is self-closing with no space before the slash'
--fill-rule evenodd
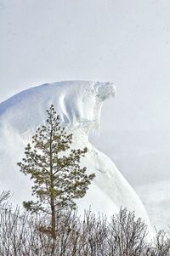
<path id="1" fill-rule="evenodd" d="M 31 145 L 26 146 L 25 158 L 18 162 L 20 171 L 30 174 L 34 184 L 32 196 L 37 202 L 23 202 L 31 212 L 50 214 L 51 234 L 55 237 L 55 218 L 59 208 L 75 208 L 75 199 L 85 196 L 94 174 L 80 167 L 81 157 L 88 149 L 71 149 L 72 134 L 61 127 L 54 105 L 51 105 L 46 124 L 37 128 Z"/>

